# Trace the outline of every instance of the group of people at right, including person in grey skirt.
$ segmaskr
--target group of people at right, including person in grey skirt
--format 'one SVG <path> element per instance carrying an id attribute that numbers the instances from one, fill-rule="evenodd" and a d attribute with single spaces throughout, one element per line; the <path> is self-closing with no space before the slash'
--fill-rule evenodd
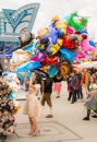
<path id="1" fill-rule="evenodd" d="M 94 111 L 92 117 L 97 118 L 97 70 L 84 69 L 75 70 L 70 74 L 68 80 L 69 100 L 74 104 L 77 99 L 84 103 L 87 109 L 87 116 L 83 120 L 89 120 L 90 110 Z"/>

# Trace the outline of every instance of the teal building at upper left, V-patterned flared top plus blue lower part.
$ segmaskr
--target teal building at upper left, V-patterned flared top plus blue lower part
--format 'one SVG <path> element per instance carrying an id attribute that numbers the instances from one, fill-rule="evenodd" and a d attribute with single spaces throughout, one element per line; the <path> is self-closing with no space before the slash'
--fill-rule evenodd
<path id="1" fill-rule="evenodd" d="M 2 9 L 0 12 L 0 57 L 19 49 L 21 29 L 31 32 L 39 3 L 29 3 L 17 10 Z"/>

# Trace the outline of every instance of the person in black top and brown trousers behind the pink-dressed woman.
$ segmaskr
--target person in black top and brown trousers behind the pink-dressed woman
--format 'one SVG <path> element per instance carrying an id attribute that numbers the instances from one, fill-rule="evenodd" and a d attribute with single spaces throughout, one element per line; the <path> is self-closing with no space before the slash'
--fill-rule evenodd
<path id="1" fill-rule="evenodd" d="M 51 118 L 52 117 L 52 103 L 51 103 L 51 93 L 52 93 L 52 79 L 47 76 L 43 79 L 43 84 L 41 84 L 41 106 L 45 106 L 45 102 L 47 102 L 49 108 L 50 108 L 50 114 L 46 116 L 46 118 Z"/>

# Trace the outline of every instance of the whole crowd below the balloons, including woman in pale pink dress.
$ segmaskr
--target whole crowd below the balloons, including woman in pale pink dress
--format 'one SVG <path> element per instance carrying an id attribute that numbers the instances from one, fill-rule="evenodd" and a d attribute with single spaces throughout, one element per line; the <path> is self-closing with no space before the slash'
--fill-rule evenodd
<path id="1" fill-rule="evenodd" d="M 49 114 L 46 118 L 53 117 L 51 94 L 54 92 L 56 98 L 61 97 L 64 78 L 60 70 L 58 70 L 54 78 L 50 78 L 47 73 L 41 75 L 28 71 L 19 80 L 21 88 L 25 86 L 24 91 L 27 92 L 23 114 L 28 116 L 31 125 L 28 134 L 37 135 L 40 132 L 37 117 L 44 114 L 46 103 L 49 106 Z M 97 118 L 97 71 L 93 69 L 75 69 L 70 73 L 65 82 L 69 92 L 68 100 L 75 104 L 77 99 L 81 99 L 87 109 L 87 115 L 83 120 L 89 120 L 92 110 L 94 111 L 92 117 Z"/>

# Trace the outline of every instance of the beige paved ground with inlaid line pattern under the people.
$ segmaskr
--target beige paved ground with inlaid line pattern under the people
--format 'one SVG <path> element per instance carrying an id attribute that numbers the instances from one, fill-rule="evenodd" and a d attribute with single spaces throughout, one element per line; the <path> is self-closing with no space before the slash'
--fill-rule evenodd
<path id="1" fill-rule="evenodd" d="M 20 95 L 23 93 L 21 92 Z M 84 104 L 80 100 L 71 104 L 66 98 L 66 84 L 63 83 L 61 97 L 56 98 L 56 95 L 52 94 L 53 117 L 45 118 L 48 114 L 46 105 L 45 116 L 38 119 L 40 134 L 37 137 L 27 135 L 28 119 L 23 115 L 25 100 L 20 100 L 22 108 L 16 115 L 15 134 L 8 137 L 7 142 L 97 142 L 97 118 L 83 121 L 82 119 L 86 115 Z"/>

